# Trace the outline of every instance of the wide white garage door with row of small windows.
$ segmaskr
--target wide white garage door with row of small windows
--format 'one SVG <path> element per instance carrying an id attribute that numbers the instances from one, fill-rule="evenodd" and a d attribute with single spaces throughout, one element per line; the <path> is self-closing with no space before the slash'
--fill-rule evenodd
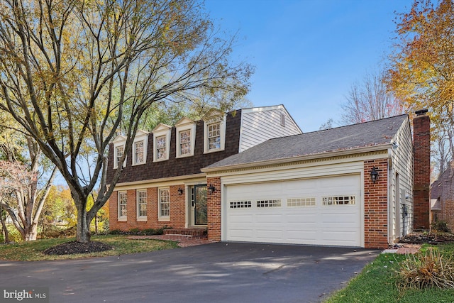
<path id="1" fill-rule="evenodd" d="M 227 241 L 362 246 L 360 175 L 226 186 Z"/>

